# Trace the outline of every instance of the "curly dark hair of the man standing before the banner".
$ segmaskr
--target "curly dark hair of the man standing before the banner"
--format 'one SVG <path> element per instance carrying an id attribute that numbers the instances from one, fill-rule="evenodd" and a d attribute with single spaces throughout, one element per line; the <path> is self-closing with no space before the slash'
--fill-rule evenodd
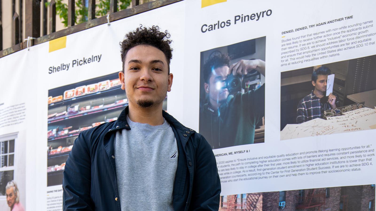
<path id="1" fill-rule="evenodd" d="M 164 32 L 159 31 L 158 26 L 152 26 L 147 28 L 143 27 L 140 24 L 140 27 L 138 27 L 136 30 L 128 32 L 125 35 L 123 42 L 120 42 L 123 72 L 125 56 L 127 55 L 129 49 L 137 45 L 150 45 L 158 48 L 165 54 L 166 60 L 168 62 L 168 74 L 170 74 L 170 60 L 172 58 L 172 48 L 170 47 L 171 40 L 168 38 L 170 38 L 170 33 L 168 33 L 167 30 L 165 30 Z"/>

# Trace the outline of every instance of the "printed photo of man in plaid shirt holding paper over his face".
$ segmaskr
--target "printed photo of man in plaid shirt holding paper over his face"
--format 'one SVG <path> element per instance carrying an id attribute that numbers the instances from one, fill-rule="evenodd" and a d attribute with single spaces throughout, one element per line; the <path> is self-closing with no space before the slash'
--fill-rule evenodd
<path id="1" fill-rule="evenodd" d="M 376 129 L 376 55 L 281 72 L 280 140 Z"/>

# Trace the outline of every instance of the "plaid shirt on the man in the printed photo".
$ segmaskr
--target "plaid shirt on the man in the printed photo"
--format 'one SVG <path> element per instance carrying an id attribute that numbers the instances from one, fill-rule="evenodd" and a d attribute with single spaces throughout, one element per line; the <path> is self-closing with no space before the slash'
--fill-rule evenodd
<path id="1" fill-rule="evenodd" d="M 335 100 L 335 104 L 338 107 L 338 97 Z M 309 95 L 299 101 L 296 110 L 296 123 L 300 124 L 311 119 L 323 118 L 324 111 L 329 109 L 332 109 L 329 102 L 325 101 L 321 103 L 320 98 L 318 98 L 312 90 Z"/>

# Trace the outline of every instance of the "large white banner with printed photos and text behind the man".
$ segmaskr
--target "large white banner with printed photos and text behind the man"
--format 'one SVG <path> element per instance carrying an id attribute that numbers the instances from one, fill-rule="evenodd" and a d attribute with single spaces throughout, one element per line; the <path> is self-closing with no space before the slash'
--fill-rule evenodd
<path id="1" fill-rule="evenodd" d="M 171 34 L 163 108 L 212 146 L 220 210 L 375 210 L 375 9 L 182 1 L 1 58 L 0 209 L 62 210 L 74 139 L 127 105 L 119 42 L 142 24 Z"/>

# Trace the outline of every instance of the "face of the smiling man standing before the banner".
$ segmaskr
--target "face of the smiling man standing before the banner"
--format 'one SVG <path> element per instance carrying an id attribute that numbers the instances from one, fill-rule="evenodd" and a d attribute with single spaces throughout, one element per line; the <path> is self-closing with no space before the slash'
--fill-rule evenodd
<path id="1" fill-rule="evenodd" d="M 140 107 L 161 105 L 171 91 L 173 75 L 168 74 L 165 54 L 150 45 L 131 48 L 124 61 L 124 73 L 119 72 L 121 89 L 129 104 Z"/>

